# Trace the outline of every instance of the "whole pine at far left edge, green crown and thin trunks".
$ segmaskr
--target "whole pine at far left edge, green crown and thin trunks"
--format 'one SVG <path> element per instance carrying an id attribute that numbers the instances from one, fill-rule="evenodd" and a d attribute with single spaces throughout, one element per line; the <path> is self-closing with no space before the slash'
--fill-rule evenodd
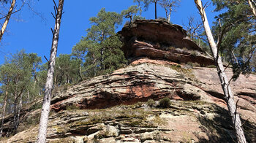
<path id="1" fill-rule="evenodd" d="M 26 54 L 21 50 L 7 58 L 0 67 L 1 90 L 5 93 L 3 116 L 5 115 L 7 100 L 11 101 L 13 103 L 10 104 L 13 107 L 13 131 L 16 131 L 20 124 L 20 109 L 23 103 L 28 103 L 31 98 L 36 96 L 33 92 L 36 89 L 32 88 L 31 85 L 34 84 L 40 62 L 41 58 L 37 54 Z M 24 96 L 26 96 L 27 101 L 24 100 Z M 3 123 L 2 119 L 1 125 Z"/>

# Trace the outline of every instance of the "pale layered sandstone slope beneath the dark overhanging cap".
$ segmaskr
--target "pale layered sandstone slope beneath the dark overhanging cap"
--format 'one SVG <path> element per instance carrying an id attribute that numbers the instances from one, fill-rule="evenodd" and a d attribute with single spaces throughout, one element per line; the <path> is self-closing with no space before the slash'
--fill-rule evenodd
<path id="1" fill-rule="evenodd" d="M 230 76 L 230 72 L 227 74 Z M 238 112 L 248 142 L 256 142 L 252 88 L 255 82 L 250 81 L 255 78 L 253 74 L 249 79 L 241 75 L 232 85 L 236 100 L 239 99 Z M 246 92 L 243 96 L 242 91 Z M 112 74 L 59 90 L 54 96 L 48 142 L 233 142 L 236 139 L 217 72 L 211 68 L 186 69 L 170 61 L 143 58 Z M 172 99 L 167 109 L 136 104 L 165 96 Z M 38 114 L 39 111 L 32 118 Z M 31 125 L 3 142 L 34 142 L 37 128 Z"/>

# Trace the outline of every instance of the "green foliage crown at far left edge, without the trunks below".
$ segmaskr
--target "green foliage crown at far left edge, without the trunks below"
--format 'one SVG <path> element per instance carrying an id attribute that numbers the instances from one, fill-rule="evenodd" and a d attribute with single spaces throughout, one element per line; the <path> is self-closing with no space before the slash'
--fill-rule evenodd
<path id="1" fill-rule="evenodd" d="M 0 67 L 1 90 L 8 91 L 13 95 L 15 102 L 18 96 L 23 93 L 29 93 L 29 98 L 38 95 L 39 87 L 37 86 L 37 70 L 41 58 L 37 54 L 27 54 L 23 50 L 6 58 L 6 61 Z M 11 98 L 11 97 L 10 97 Z"/>

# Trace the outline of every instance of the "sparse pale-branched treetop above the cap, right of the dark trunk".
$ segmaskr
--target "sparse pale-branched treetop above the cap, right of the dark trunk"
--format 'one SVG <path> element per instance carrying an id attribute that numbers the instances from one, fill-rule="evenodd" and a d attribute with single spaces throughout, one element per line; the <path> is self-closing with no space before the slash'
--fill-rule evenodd
<path id="1" fill-rule="evenodd" d="M 170 15 L 175 10 L 175 7 L 178 7 L 181 0 L 161 0 L 159 2 L 160 6 L 165 9 L 165 15 L 167 21 L 170 23 Z"/>

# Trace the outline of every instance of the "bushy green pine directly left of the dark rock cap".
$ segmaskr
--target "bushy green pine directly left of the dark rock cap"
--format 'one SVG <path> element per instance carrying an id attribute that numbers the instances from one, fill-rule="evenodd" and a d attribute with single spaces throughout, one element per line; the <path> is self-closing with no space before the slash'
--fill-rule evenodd
<path id="1" fill-rule="evenodd" d="M 102 8 L 97 17 L 89 19 L 93 24 L 88 28 L 87 36 L 72 49 L 72 55 L 83 60 L 83 74 L 94 77 L 119 68 L 126 63 L 121 51 L 120 37 L 116 27 L 122 22 L 122 15 L 106 12 Z"/>

